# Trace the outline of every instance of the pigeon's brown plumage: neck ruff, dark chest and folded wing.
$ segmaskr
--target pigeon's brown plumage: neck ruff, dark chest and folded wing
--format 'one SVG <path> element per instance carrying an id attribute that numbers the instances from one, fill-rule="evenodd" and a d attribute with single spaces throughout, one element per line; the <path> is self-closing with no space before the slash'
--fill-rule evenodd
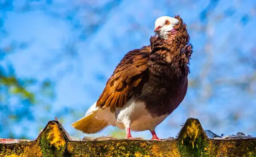
<path id="1" fill-rule="evenodd" d="M 145 102 L 152 116 L 171 114 L 186 95 L 192 45 L 180 22 L 167 40 L 153 36 L 150 46 L 128 52 L 106 83 L 97 106 L 122 107 L 132 96 Z"/>

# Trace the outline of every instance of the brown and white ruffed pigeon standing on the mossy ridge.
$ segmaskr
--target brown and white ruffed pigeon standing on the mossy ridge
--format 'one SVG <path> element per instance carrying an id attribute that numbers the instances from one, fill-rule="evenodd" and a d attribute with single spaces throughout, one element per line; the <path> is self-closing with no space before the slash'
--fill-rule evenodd
<path id="1" fill-rule="evenodd" d="M 186 24 L 179 15 L 157 18 L 150 45 L 129 51 L 116 66 L 99 99 L 71 124 L 86 134 L 107 126 L 131 131 L 155 128 L 183 101 L 193 52 Z"/>

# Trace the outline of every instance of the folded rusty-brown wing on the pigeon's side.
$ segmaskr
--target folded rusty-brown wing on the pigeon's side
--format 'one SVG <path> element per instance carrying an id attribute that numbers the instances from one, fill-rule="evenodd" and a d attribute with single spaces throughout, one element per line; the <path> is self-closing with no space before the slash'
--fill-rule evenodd
<path id="1" fill-rule="evenodd" d="M 105 89 L 97 101 L 101 108 L 122 107 L 129 99 L 134 87 L 137 87 L 148 69 L 150 46 L 134 49 L 125 54 L 125 57 L 116 66 L 112 76 L 106 83 Z"/>

